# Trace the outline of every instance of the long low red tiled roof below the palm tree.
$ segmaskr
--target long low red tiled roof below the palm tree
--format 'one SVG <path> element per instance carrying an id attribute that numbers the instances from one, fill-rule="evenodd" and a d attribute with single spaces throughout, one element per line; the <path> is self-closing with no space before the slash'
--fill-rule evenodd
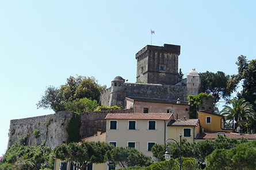
<path id="1" fill-rule="evenodd" d="M 216 139 L 217 135 L 226 135 L 228 138 L 234 139 L 256 139 L 256 134 L 232 133 L 232 132 L 204 132 L 197 139 Z"/>

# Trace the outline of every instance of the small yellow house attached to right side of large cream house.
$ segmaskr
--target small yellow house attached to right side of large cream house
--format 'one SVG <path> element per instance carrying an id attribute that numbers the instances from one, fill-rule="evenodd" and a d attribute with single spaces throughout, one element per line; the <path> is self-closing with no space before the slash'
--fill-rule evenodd
<path id="1" fill-rule="evenodd" d="M 167 124 L 167 138 L 179 141 L 179 134 L 182 139 L 193 143 L 196 136 L 200 133 L 200 121 L 198 119 L 178 119 L 171 120 Z"/>

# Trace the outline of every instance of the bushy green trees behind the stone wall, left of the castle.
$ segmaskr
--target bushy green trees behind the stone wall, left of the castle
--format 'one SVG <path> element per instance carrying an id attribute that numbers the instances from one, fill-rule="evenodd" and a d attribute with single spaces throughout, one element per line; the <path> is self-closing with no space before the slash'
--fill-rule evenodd
<path id="1" fill-rule="evenodd" d="M 105 88 L 106 86 L 99 85 L 94 77 L 70 76 L 66 84 L 61 85 L 60 88 L 49 86 L 37 103 L 37 108 L 49 108 L 54 112 L 59 112 L 66 110 L 67 107 L 70 108 L 70 102 L 85 97 L 98 102 L 100 93 Z"/>

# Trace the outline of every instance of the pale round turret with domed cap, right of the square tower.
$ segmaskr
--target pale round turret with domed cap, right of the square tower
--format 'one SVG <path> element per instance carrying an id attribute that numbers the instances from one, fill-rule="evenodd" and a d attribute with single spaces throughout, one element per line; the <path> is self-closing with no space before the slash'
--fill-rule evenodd
<path id="1" fill-rule="evenodd" d="M 197 95 L 201 86 L 200 76 L 196 69 L 192 69 L 186 78 L 186 86 L 188 88 L 188 94 Z"/>

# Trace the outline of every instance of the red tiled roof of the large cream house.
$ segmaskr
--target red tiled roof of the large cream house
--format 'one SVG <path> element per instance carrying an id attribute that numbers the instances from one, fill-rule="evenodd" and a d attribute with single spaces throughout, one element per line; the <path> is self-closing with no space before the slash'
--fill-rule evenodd
<path id="1" fill-rule="evenodd" d="M 170 117 L 170 113 L 109 113 L 106 115 L 105 119 L 169 120 Z"/>

